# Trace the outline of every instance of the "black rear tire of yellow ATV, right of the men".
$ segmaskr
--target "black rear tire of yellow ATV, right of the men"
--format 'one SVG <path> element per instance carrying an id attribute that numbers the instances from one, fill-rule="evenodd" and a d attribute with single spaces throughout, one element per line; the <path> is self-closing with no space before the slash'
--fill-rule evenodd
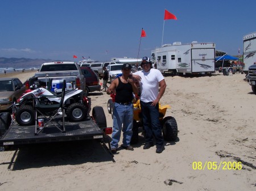
<path id="1" fill-rule="evenodd" d="M 174 117 L 164 117 L 162 127 L 164 140 L 175 141 L 177 139 L 177 122 Z"/>

